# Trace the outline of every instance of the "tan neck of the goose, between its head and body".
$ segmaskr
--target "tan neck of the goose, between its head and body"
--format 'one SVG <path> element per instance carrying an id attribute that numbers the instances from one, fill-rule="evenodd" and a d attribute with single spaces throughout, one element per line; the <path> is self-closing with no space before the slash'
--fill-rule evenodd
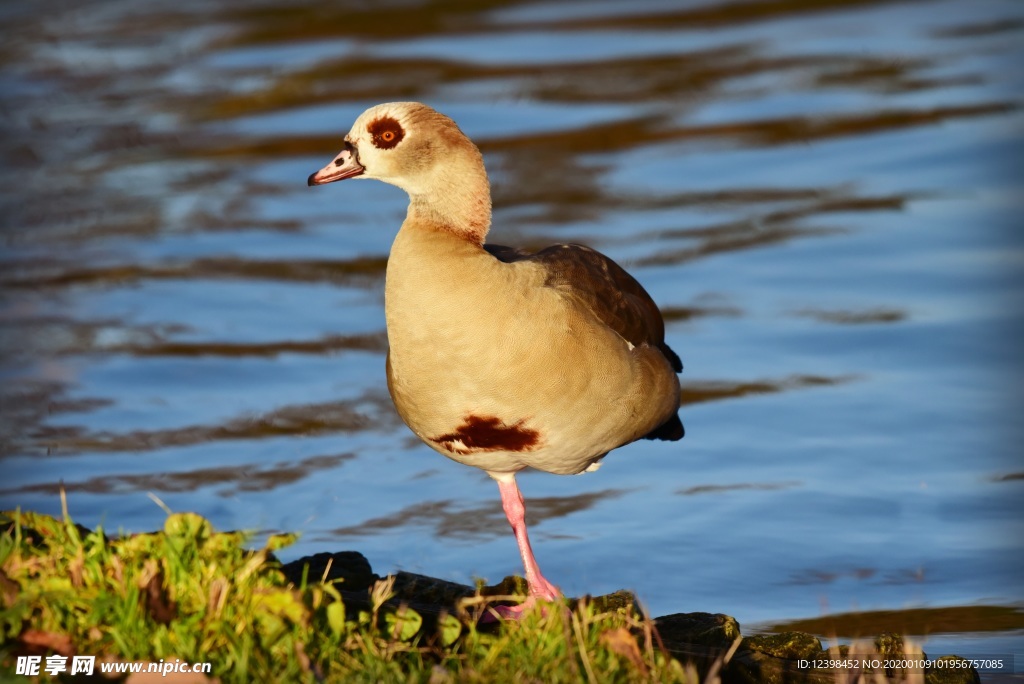
<path id="1" fill-rule="evenodd" d="M 490 228 L 490 184 L 482 161 L 449 168 L 431 181 L 423 191 L 410 189 L 407 221 L 482 245 Z"/>

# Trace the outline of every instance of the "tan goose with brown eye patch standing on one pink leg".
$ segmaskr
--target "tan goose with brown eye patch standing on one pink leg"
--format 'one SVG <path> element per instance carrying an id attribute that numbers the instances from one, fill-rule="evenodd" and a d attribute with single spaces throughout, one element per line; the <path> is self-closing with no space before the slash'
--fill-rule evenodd
<path id="1" fill-rule="evenodd" d="M 561 591 L 529 543 L 516 474 L 596 470 L 641 438 L 679 440 L 683 366 L 643 287 L 589 247 L 486 242 L 490 183 L 479 148 L 420 102 L 370 108 L 309 186 L 377 179 L 409 195 L 384 287 L 387 387 L 428 446 L 498 483 L 528 586 L 517 618 Z"/>

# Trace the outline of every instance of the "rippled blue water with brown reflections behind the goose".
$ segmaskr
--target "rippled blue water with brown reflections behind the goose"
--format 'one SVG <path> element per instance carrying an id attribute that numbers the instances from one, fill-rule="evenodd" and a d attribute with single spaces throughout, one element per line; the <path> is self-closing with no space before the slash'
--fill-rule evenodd
<path id="1" fill-rule="evenodd" d="M 1024 652 L 1018 1 L 0 16 L 4 507 L 57 513 L 62 481 L 80 522 L 143 530 L 153 493 L 301 530 L 293 556 L 519 572 L 497 487 L 387 395 L 404 196 L 305 185 L 364 109 L 418 99 L 483 151 L 493 242 L 605 252 L 686 365 L 682 442 L 520 477 L 549 578 Z"/>

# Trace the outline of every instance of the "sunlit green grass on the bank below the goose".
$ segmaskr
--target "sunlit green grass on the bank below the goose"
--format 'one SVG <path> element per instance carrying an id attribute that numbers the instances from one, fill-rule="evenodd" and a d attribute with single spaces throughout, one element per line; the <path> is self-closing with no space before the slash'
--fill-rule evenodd
<path id="1" fill-rule="evenodd" d="M 73 650 L 97 662 L 209 661 L 221 682 L 698 679 L 630 610 L 582 602 L 478 629 L 473 615 L 490 599 L 424 619 L 386 603 L 386 580 L 356 610 L 331 583 L 286 581 L 272 552 L 293 536 L 253 551 L 247 536 L 217 532 L 196 514 L 112 539 L 67 515 L 15 511 L 0 516 L 0 676 L 12 676 L 14 655 L 34 643 L 43 655 Z"/>

